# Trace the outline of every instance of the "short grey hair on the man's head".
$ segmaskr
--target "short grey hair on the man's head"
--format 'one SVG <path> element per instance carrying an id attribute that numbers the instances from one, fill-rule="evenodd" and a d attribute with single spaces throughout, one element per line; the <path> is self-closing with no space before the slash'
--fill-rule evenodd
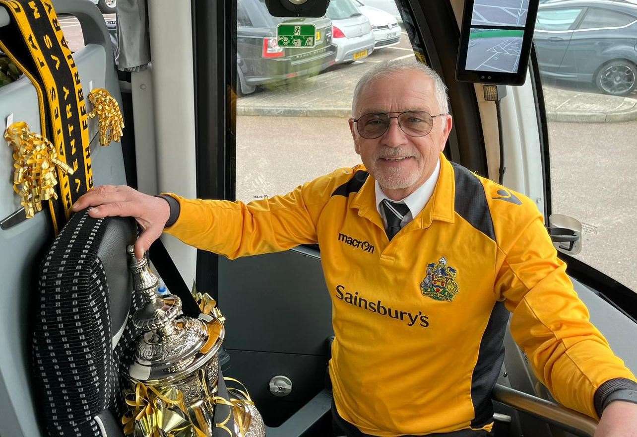
<path id="1" fill-rule="evenodd" d="M 442 81 L 438 73 L 436 73 L 436 71 L 432 70 L 424 63 L 416 61 L 415 59 L 390 59 L 389 61 L 383 61 L 382 63 L 376 64 L 376 66 L 362 75 L 362 77 L 359 79 L 356 87 L 354 88 L 354 98 L 352 99 L 352 117 L 356 117 L 356 114 L 354 113 L 356 110 L 356 102 L 359 99 L 359 96 L 361 96 L 362 90 L 364 89 L 365 85 L 378 78 L 391 76 L 393 73 L 397 73 L 399 71 L 410 70 L 420 71 L 434 81 L 434 94 L 436 95 L 436 100 L 438 100 L 438 105 L 440 105 L 440 112 L 449 112 L 449 104 L 447 101 L 447 86 Z"/>

